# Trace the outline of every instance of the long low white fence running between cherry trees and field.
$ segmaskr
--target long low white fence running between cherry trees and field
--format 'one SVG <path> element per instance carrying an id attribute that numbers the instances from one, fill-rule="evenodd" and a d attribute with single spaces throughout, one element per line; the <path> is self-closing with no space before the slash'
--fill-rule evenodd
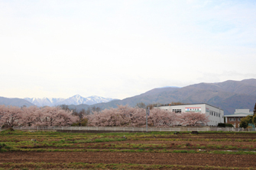
<path id="1" fill-rule="evenodd" d="M 117 131 L 117 132 L 173 132 L 173 131 L 226 131 L 226 132 L 250 132 L 256 131 L 256 128 L 244 129 L 234 127 L 14 127 L 15 130 L 29 131 L 55 131 L 55 130 L 91 130 L 91 131 Z"/>

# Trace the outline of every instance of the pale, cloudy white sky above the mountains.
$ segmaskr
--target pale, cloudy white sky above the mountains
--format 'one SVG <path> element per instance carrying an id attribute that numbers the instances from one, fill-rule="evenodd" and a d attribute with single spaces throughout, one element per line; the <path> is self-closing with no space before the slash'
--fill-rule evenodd
<path id="1" fill-rule="evenodd" d="M 256 79 L 254 0 L 0 0 L 0 96 L 128 98 Z"/>

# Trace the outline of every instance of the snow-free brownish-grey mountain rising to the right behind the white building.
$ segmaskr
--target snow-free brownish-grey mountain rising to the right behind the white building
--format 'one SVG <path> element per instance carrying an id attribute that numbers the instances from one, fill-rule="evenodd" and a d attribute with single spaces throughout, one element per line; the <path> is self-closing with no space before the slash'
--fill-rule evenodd
<path id="1" fill-rule="evenodd" d="M 139 102 L 144 104 L 169 104 L 180 101 L 185 104 L 207 103 L 224 110 L 224 114 L 234 114 L 235 109 L 253 110 L 256 103 L 256 79 L 242 81 L 228 80 L 218 83 L 199 83 L 183 88 L 154 88 L 141 95 L 107 103 L 93 104 L 101 109 L 128 104 L 134 107 Z M 70 108 L 87 109 L 88 105 L 70 105 Z"/>

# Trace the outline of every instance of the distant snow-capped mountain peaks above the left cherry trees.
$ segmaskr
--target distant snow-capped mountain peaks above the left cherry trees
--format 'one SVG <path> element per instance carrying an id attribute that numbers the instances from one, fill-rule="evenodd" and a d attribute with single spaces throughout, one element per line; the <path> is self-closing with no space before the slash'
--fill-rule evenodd
<path id="1" fill-rule="evenodd" d="M 74 95 L 70 98 L 24 98 L 25 100 L 31 102 L 32 104 L 37 105 L 38 107 L 43 106 L 57 106 L 61 104 L 97 104 L 97 103 L 105 103 L 112 100 L 115 100 L 113 98 L 102 98 L 96 95 L 90 96 L 88 98 L 83 98 L 80 95 Z"/>

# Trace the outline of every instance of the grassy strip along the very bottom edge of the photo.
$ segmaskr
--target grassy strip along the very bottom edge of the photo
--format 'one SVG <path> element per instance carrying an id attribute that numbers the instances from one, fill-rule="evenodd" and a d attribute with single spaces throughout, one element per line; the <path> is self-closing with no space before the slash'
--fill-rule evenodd
<path id="1" fill-rule="evenodd" d="M 221 167 L 221 166 L 202 166 L 202 165 L 139 165 L 139 164 L 89 164 L 83 162 L 74 163 L 46 163 L 46 162 L 24 162 L 24 163 L 0 163 L 0 170 L 8 168 L 51 168 L 51 169 L 254 169 L 254 168 L 241 168 L 241 167 Z"/>

